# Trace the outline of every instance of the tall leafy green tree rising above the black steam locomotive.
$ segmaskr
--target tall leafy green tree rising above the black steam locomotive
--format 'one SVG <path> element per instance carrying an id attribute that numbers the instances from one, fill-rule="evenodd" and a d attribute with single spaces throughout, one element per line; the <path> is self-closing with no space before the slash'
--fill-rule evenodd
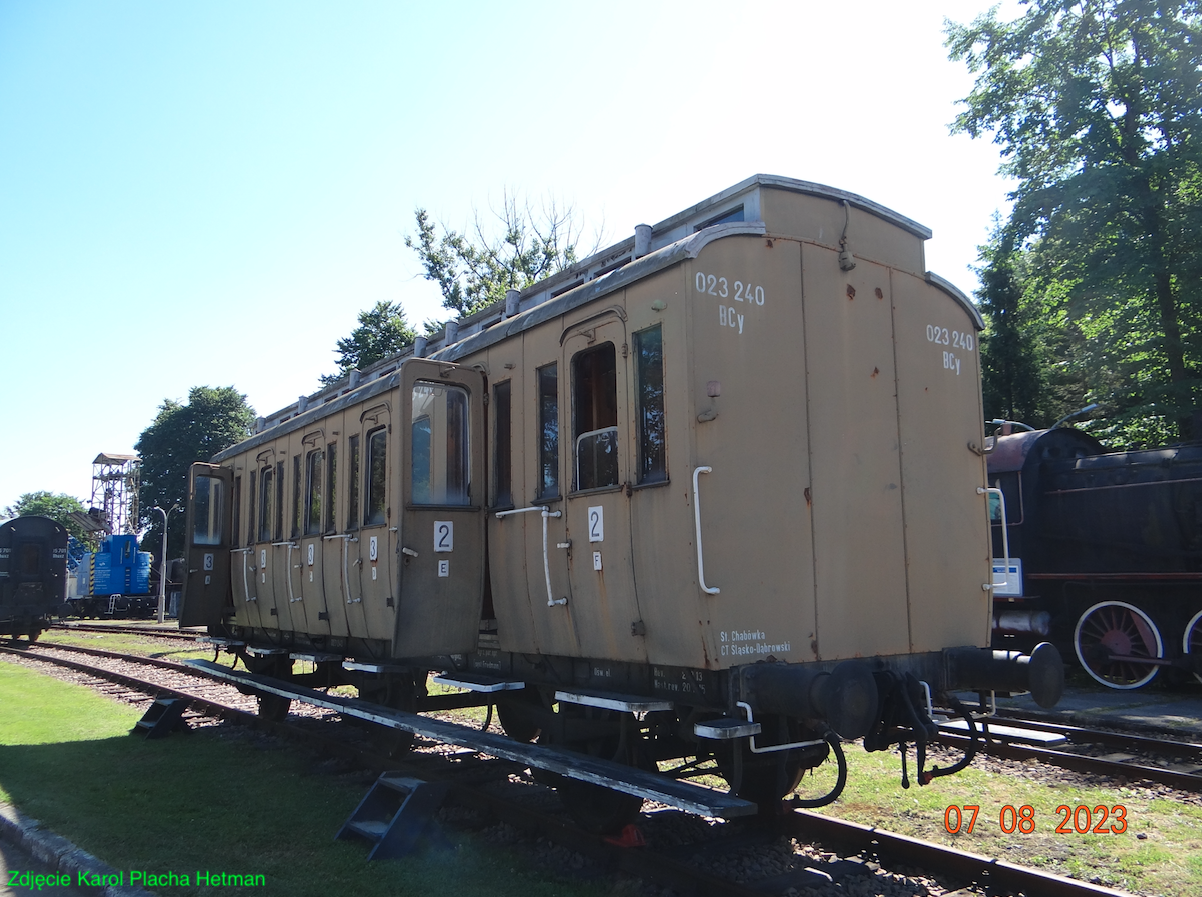
<path id="1" fill-rule="evenodd" d="M 992 132 L 1018 182 L 1000 249 L 1029 253 L 1045 320 L 1076 328 L 1064 361 L 1120 438 L 1202 435 L 1202 0 L 1030 0 L 946 28 L 976 75 L 953 130 Z"/>

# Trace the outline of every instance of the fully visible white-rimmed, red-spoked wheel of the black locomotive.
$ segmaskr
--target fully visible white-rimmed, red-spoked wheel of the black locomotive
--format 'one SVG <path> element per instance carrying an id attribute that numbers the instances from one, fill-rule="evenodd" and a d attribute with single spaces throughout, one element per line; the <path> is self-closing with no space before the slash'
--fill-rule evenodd
<path id="1" fill-rule="evenodd" d="M 1165 657 L 1165 643 L 1152 617 L 1126 601 L 1102 601 L 1081 614 L 1072 643 L 1085 672 L 1109 688 L 1147 685 L 1160 670 L 1138 660 L 1111 660 L 1112 654 Z"/>

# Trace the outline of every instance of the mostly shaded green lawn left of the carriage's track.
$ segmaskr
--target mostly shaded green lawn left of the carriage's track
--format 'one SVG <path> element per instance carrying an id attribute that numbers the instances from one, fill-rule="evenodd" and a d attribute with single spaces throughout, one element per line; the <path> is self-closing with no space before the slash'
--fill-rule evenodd
<path id="1" fill-rule="evenodd" d="M 441 848 L 369 865 L 365 843 L 333 836 L 373 777 L 274 738 L 225 727 L 130 737 L 137 711 L 5 663 L 0 708 L 0 796 L 117 869 L 194 884 L 162 893 L 210 892 L 195 886 L 197 869 L 262 873 L 280 895 L 602 892 L 454 832 Z"/>

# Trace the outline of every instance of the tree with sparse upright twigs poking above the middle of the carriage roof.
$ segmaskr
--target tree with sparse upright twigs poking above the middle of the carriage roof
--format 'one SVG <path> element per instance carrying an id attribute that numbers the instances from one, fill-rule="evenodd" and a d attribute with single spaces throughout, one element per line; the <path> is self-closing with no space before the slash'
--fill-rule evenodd
<path id="1" fill-rule="evenodd" d="M 493 216 L 500 237 L 492 236 L 478 213 L 472 215 L 471 233 L 441 225 L 440 234 L 419 208 L 415 212 L 417 234 L 405 237 L 405 245 L 417 253 L 426 269 L 426 279 L 442 291 L 442 305 L 459 315 L 501 302 L 507 290 L 524 290 L 577 261 L 579 226 L 571 206 L 560 208 L 551 202 L 535 214 L 529 203 L 519 207 L 506 192 Z"/>

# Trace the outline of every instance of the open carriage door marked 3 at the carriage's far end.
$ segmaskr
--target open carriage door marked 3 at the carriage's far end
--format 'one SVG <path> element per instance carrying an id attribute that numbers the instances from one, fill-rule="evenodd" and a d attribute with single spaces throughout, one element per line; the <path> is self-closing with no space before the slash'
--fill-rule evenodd
<path id="1" fill-rule="evenodd" d="M 233 471 L 192 464 L 188 483 L 188 576 L 179 625 L 219 625 L 230 606 Z"/>

